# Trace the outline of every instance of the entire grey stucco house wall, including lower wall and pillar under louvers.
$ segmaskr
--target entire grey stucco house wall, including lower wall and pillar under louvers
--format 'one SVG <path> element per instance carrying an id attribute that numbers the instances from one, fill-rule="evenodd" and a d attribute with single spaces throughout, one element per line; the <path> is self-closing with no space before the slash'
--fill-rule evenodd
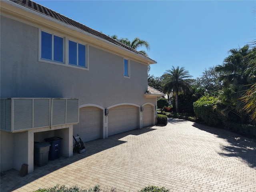
<path id="1" fill-rule="evenodd" d="M 124 78 L 124 57 L 91 45 L 87 46 L 89 70 L 40 62 L 38 27 L 5 16 L 0 20 L 1 98 L 78 98 L 80 106 L 93 104 L 103 109 L 123 103 L 156 105 L 156 98 L 144 97 L 146 65 L 127 58 L 130 78 Z M 64 138 L 67 150 L 61 150 L 62 155 L 71 156 L 73 128 L 62 129 L 54 135 Z M 47 129 L 36 132 L 44 131 Z M 1 131 L 1 170 L 3 167 L 20 170 L 21 164 L 26 163 L 32 172 L 34 141 L 42 141 L 46 135 L 52 136 L 52 132 Z"/>

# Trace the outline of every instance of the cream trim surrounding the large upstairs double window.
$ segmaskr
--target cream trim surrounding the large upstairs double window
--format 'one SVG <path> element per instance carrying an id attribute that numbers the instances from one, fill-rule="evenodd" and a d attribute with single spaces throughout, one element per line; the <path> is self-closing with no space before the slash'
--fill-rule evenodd
<path id="1" fill-rule="evenodd" d="M 42 31 L 55 35 L 55 36 L 59 36 L 61 38 L 63 38 L 63 47 L 64 47 L 64 51 L 63 51 L 63 62 L 58 62 L 58 61 L 53 61 L 53 60 L 47 60 L 47 59 L 42 59 L 41 58 L 41 40 L 42 40 Z M 68 41 L 74 41 L 76 43 L 82 44 L 86 46 L 86 58 L 85 58 L 85 62 L 86 62 L 86 67 L 81 67 L 81 66 L 76 66 L 76 65 L 71 65 L 69 64 L 69 58 L 68 58 Z M 53 50 L 52 50 L 53 51 Z M 50 64 L 56 64 L 56 65 L 61 65 L 61 66 L 66 66 L 66 67 L 71 67 L 71 68 L 77 68 L 77 69 L 81 69 L 81 70 L 89 70 L 89 59 L 88 59 L 88 55 L 89 55 L 89 47 L 88 44 L 84 43 L 84 42 L 80 42 L 78 40 L 72 39 L 72 38 L 68 38 L 66 36 L 63 36 L 59 33 L 56 32 L 52 32 L 50 30 L 45 30 L 43 28 L 38 28 L 38 61 L 39 62 L 44 62 L 44 63 L 50 63 Z"/>

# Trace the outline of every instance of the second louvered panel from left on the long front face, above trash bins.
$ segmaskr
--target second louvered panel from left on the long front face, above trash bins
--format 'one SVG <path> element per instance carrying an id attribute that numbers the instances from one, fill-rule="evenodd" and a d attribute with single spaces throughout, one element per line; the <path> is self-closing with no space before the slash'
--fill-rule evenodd
<path id="1" fill-rule="evenodd" d="M 50 126 L 50 99 L 34 99 L 34 128 Z"/>

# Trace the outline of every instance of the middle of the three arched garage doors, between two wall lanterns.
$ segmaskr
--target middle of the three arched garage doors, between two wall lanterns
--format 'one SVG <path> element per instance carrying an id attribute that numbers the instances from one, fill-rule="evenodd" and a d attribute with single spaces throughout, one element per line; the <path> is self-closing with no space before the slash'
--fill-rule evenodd
<path id="1" fill-rule="evenodd" d="M 111 108 L 108 113 L 108 136 L 140 127 L 139 108 L 131 105 Z"/>

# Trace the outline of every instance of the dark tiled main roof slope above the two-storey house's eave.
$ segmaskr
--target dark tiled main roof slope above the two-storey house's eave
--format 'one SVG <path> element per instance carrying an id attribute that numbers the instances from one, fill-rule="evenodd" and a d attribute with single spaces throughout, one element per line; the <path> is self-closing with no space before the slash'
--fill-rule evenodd
<path id="1" fill-rule="evenodd" d="M 94 30 L 94 29 L 92 29 L 88 26 L 85 26 L 85 25 L 83 25 L 79 22 L 76 22 L 75 20 L 72 20 L 72 19 L 70 19 L 70 18 L 68 18 L 68 17 L 66 17 L 62 14 L 59 14 L 58 12 L 55 12 L 55 11 L 49 9 L 49 8 L 46 8 L 45 6 L 42 6 L 42 5 L 40 5 L 36 2 L 30 1 L 30 0 L 10 0 L 10 1 L 12 1 L 16 4 L 19 4 L 21 6 L 24 6 L 26 8 L 29 8 L 31 10 L 34 10 L 36 12 L 39 12 L 41 14 L 44 14 L 46 16 L 49 16 L 51 18 L 54 18 L 54 19 L 56 19 L 60 22 L 64 22 L 65 24 L 68 24 L 68 25 L 71 25 L 71 26 L 76 27 L 78 29 L 84 30 L 85 32 L 88 32 L 88 33 L 90 33 L 94 36 L 97 36 L 99 38 L 107 40 L 108 42 L 111 42 L 111 43 L 116 44 L 120 47 L 126 48 L 127 50 L 130 50 L 130 51 L 132 51 L 136 54 L 142 55 L 142 56 L 152 60 L 151 58 L 149 58 L 148 56 L 145 56 L 141 52 L 139 52 L 139 51 L 137 51 L 137 50 L 135 50 L 135 49 L 133 49 L 129 46 L 126 46 L 125 44 L 122 44 L 121 42 L 118 42 L 117 40 L 114 40 L 113 38 L 111 38 L 111 37 L 109 37 L 109 36 L 107 36 L 107 35 L 105 35 L 101 32 L 98 32 L 98 31 L 96 31 L 96 30 Z M 154 61 L 154 60 L 152 60 L 152 61 Z M 154 62 L 156 62 L 156 61 L 154 61 Z"/>

